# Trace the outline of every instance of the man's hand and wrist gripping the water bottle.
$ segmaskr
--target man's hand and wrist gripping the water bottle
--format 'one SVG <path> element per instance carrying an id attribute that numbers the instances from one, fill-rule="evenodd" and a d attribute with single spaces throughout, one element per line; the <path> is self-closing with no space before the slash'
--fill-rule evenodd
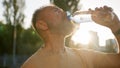
<path id="1" fill-rule="evenodd" d="M 113 33 L 120 29 L 120 21 L 111 7 L 104 6 L 95 8 L 94 11 L 90 9 L 90 11 L 92 11 L 92 19 L 96 23 L 109 27 Z"/>

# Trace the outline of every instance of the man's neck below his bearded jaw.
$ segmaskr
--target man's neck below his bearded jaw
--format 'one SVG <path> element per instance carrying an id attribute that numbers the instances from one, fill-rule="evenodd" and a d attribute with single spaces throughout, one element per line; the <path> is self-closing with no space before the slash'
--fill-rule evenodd
<path id="1" fill-rule="evenodd" d="M 65 42 L 64 37 L 62 36 L 48 36 L 45 39 L 45 47 L 43 50 L 48 51 L 49 53 L 59 54 L 65 51 Z"/>

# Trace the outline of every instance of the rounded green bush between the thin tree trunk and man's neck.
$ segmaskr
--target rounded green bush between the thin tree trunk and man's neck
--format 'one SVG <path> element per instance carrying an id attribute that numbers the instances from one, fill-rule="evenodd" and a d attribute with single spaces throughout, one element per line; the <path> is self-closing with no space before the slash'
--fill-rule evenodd
<path id="1" fill-rule="evenodd" d="M 20 38 L 17 40 L 18 54 L 33 54 L 42 45 L 42 40 L 32 28 L 23 30 Z"/>

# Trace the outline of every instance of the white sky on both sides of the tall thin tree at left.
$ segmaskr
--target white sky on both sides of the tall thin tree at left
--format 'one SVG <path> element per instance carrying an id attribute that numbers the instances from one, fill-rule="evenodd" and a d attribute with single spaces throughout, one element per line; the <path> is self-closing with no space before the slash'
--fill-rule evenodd
<path id="1" fill-rule="evenodd" d="M 0 21 L 4 21 L 3 12 L 4 8 L 2 6 L 2 1 L 0 0 Z M 24 27 L 29 28 L 31 25 L 31 18 L 33 12 L 38 9 L 40 6 L 44 6 L 46 4 L 49 4 L 49 0 L 25 0 L 26 6 L 24 9 L 25 14 L 25 20 L 24 20 Z"/>

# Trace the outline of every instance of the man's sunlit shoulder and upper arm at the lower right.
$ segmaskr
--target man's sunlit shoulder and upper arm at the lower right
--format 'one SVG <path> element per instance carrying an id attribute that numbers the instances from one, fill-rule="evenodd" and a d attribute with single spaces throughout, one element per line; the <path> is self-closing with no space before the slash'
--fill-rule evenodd
<path id="1" fill-rule="evenodd" d="M 74 49 L 82 59 L 95 68 L 120 68 L 120 54 L 104 53 L 88 49 Z"/>

